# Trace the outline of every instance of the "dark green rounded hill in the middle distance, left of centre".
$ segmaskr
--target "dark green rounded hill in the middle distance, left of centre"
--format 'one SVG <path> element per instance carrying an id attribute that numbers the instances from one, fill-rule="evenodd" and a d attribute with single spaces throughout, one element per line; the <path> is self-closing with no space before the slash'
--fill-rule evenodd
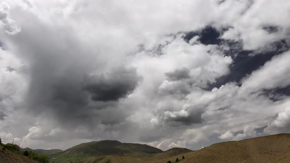
<path id="1" fill-rule="evenodd" d="M 61 153 L 50 155 L 50 158 L 56 162 L 70 163 L 70 161 L 88 162 L 87 159 L 100 161 L 104 156 L 109 155 L 137 158 L 161 152 L 163 151 L 146 144 L 121 143 L 116 140 L 103 140 L 76 145 Z"/>

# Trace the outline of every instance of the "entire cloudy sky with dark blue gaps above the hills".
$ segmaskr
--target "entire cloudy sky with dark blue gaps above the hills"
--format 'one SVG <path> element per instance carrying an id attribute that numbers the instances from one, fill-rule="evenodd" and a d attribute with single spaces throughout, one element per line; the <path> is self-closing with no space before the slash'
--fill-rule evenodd
<path id="1" fill-rule="evenodd" d="M 0 0 L 0 137 L 162 150 L 290 132 L 289 0 Z"/>

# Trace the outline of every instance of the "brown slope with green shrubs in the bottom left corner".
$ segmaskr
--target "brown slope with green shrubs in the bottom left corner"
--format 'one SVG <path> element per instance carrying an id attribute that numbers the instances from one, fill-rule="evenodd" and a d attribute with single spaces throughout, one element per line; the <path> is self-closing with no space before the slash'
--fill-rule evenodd
<path id="1" fill-rule="evenodd" d="M 24 155 L 20 155 L 0 147 L 0 163 L 37 163 Z"/>

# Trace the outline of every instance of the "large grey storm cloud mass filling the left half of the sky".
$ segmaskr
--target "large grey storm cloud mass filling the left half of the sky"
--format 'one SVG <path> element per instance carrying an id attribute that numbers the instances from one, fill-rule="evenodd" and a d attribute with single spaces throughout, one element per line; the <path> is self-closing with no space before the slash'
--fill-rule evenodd
<path id="1" fill-rule="evenodd" d="M 120 118 L 107 119 L 119 109 L 117 100 L 137 87 L 140 78 L 136 69 L 118 65 L 116 70 L 111 71 L 114 66 L 104 69 L 107 58 L 66 32 L 67 29 L 44 27 L 29 13 L 23 17 L 31 21 L 33 30 L 30 24 L 22 26 L 22 32 L 13 41 L 28 67 L 30 80 L 25 102 L 29 113 L 36 116 L 47 113 L 64 128 L 79 125 L 94 128 L 100 123 L 124 121 L 127 116 L 124 110 L 117 112 Z"/>

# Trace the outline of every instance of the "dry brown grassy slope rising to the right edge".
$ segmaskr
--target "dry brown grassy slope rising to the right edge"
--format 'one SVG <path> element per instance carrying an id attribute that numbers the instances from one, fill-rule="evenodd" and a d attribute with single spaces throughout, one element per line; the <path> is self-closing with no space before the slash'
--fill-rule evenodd
<path id="1" fill-rule="evenodd" d="M 290 163 L 290 134 L 213 144 L 180 163 Z"/>

